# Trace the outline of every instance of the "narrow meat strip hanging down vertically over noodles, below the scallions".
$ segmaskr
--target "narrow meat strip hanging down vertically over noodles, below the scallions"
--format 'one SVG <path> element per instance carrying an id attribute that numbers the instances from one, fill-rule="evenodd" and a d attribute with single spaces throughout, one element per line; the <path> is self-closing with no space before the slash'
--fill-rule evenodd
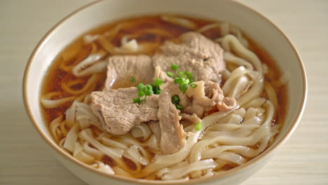
<path id="1" fill-rule="evenodd" d="M 172 104 L 171 97 L 182 93 L 179 84 L 173 81 L 161 85 L 158 97 L 158 119 L 160 124 L 160 149 L 163 154 L 179 151 L 186 144 L 184 128 L 179 124 L 179 111 Z"/>

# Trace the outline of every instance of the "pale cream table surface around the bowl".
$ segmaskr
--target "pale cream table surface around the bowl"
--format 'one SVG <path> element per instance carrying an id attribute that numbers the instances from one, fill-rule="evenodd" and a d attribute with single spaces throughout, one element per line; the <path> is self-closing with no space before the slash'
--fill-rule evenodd
<path id="1" fill-rule="evenodd" d="M 34 130 L 22 103 L 22 75 L 48 29 L 90 1 L 0 1 L 0 184 L 85 184 L 53 158 Z M 242 3 L 289 36 L 308 75 L 308 103 L 299 127 L 243 185 L 328 184 L 328 1 Z"/>

